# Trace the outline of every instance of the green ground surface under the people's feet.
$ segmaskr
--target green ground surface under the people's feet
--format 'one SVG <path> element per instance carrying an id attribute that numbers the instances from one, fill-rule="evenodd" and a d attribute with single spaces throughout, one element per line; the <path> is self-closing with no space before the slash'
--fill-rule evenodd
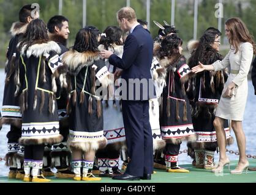
<path id="1" fill-rule="evenodd" d="M 249 160 L 250 166 L 256 166 L 256 160 Z M 232 161 L 230 169 L 235 169 L 236 161 Z M 183 168 L 189 169 L 189 173 L 169 173 L 156 169 L 157 173 L 152 175 L 151 180 L 140 181 L 120 181 L 112 180 L 111 178 L 102 178 L 99 182 L 93 183 L 256 183 L 256 171 L 248 171 L 247 174 L 234 175 L 228 171 L 228 166 L 225 166 L 223 174 L 215 175 L 211 171 L 205 169 L 195 169 L 192 165 L 182 165 Z M 245 171 L 244 171 L 245 172 Z M 77 183 L 72 179 L 56 179 L 50 177 L 51 183 Z M 18 183 L 21 180 L 7 179 L 0 177 L 0 183 Z M 83 181 L 79 182 L 82 183 Z M 88 183 L 88 182 L 84 182 Z M 89 182 L 91 183 L 91 182 Z"/>

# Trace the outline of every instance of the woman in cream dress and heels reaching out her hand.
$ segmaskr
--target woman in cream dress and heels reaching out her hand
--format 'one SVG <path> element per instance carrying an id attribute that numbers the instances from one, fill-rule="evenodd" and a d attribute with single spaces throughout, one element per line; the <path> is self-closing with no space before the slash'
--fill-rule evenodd
<path id="1" fill-rule="evenodd" d="M 255 53 L 255 44 L 246 25 L 239 18 L 230 18 L 226 21 L 225 35 L 230 43 L 230 51 L 224 60 L 218 60 L 212 65 L 202 65 L 199 62 L 199 65 L 192 68 L 192 71 L 200 73 L 204 70 L 219 71 L 229 68 L 228 79 L 224 85 L 214 119 L 220 158 L 219 164 L 216 169 L 213 169 L 213 172 L 222 172 L 223 167 L 230 163 L 225 152 L 226 138 L 223 130 L 224 119 L 230 119 L 239 149 L 238 165 L 231 173 L 241 174 L 249 166 L 246 158 L 246 137 L 243 132 L 242 121 L 248 92 L 247 74 Z"/>

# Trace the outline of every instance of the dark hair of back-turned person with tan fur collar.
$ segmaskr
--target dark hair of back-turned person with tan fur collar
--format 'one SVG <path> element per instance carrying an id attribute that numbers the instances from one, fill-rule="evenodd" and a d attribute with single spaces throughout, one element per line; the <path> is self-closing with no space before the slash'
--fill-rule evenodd
<path id="1" fill-rule="evenodd" d="M 80 29 L 75 37 L 73 49 L 78 52 L 92 51 L 97 52 L 98 42 L 97 36 L 92 27 L 85 27 Z"/>

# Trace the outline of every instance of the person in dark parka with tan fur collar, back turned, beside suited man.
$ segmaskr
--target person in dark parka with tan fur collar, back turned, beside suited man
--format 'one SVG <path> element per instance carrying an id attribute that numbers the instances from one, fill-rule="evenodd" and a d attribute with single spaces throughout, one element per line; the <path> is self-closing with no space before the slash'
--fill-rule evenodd
<path id="1" fill-rule="evenodd" d="M 72 151 L 73 179 L 85 181 L 100 180 L 92 174 L 92 167 L 97 149 L 107 144 L 102 102 L 96 87 L 101 83 L 102 88 L 107 88 L 108 69 L 104 60 L 100 59 L 93 30 L 92 27 L 79 30 L 73 48 L 62 58 L 69 69 L 67 110 L 70 130 L 67 146 Z"/>

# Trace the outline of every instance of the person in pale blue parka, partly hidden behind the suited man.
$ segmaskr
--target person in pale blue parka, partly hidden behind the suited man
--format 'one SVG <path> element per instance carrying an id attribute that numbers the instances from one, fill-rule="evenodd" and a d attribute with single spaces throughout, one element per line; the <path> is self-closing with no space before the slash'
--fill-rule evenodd
<path id="1" fill-rule="evenodd" d="M 100 39 L 99 50 L 107 49 L 122 57 L 122 30 L 116 26 L 108 26 Z M 119 157 L 121 147 L 125 144 L 124 122 L 122 119 L 121 99 L 116 96 L 114 83 L 121 75 L 121 69 L 111 65 L 105 60 L 111 85 L 108 86 L 107 96 L 102 102 L 104 116 L 104 136 L 108 140 L 107 147 L 97 151 L 100 177 L 122 174 L 119 170 Z M 113 121 L 113 118 L 115 120 Z"/>

